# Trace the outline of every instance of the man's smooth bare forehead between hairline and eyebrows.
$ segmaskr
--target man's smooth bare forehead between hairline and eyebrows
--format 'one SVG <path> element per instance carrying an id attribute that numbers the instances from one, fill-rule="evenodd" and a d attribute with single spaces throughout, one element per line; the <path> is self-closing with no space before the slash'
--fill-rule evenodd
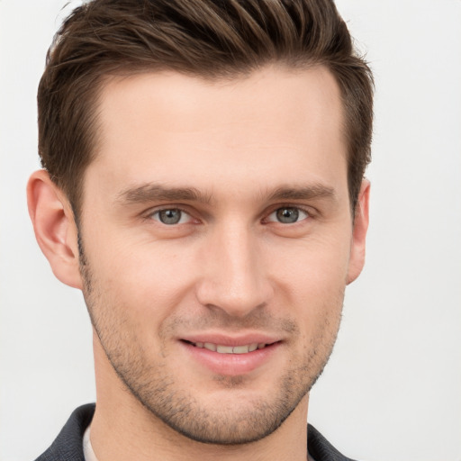
<path id="1" fill-rule="evenodd" d="M 99 122 L 87 176 L 113 194 L 150 183 L 215 193 L 225 185 L 260 193 L 347 184 L 339 87 L 325 68 L 268 67 L 216 81 L 173 72 L 114 77 Z"/>

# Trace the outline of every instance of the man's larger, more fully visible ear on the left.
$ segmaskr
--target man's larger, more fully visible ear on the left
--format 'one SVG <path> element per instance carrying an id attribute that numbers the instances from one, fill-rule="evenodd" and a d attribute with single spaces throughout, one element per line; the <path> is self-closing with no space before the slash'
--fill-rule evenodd
<path id="1" fill-rule="evenodd" d="M 74 213 L 66 195 L 45 170 L 36 171 L 29 178 L 27 204 L 35 238 L 53 274 L 62 283 L 81 289 Z"/>

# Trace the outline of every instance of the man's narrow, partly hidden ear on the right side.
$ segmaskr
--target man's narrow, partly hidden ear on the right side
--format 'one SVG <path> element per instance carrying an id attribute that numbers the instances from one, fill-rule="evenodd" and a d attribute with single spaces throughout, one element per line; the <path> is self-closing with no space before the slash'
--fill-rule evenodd
<path id="1" fill-rule="evenodd" d="M 368 201 L 370 198 L 370 182 L 362 181 L 355 210 L 354 229 L 350 247 L 347 283 L 350 284 L 360 275 L 365 265 L 366 230 L 368 230 Z"/>

